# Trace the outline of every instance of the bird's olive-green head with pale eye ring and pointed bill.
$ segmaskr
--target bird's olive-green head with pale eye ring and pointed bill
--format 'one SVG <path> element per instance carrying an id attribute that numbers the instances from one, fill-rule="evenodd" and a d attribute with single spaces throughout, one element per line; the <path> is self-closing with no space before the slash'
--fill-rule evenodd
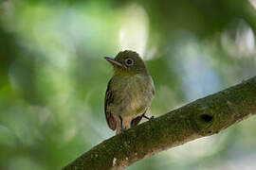
<path id="1" fill-rule="evenodd" d="M 105 57 L 114 67 L 115 75 L 148 75 L 144 61 L 137 52 L 125 50 L 119 52 L 116 58 Z"/>

